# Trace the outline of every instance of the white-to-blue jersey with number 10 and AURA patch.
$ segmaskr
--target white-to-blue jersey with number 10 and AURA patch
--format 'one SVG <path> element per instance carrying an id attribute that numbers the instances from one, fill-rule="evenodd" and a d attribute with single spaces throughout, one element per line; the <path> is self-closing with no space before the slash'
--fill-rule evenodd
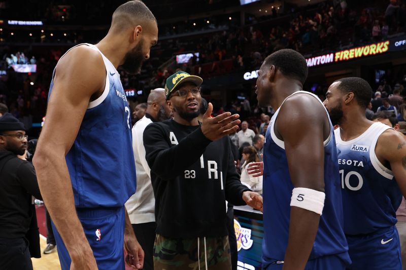
<path id="1" fill-rule="evenodd" d="M 390 129 L 374 123 L 359 137 L 343 141 L 335 130 L 346 235 L 365 235 L 396 224 L 402 194 L 375 154 L 379 136 Z"/>

